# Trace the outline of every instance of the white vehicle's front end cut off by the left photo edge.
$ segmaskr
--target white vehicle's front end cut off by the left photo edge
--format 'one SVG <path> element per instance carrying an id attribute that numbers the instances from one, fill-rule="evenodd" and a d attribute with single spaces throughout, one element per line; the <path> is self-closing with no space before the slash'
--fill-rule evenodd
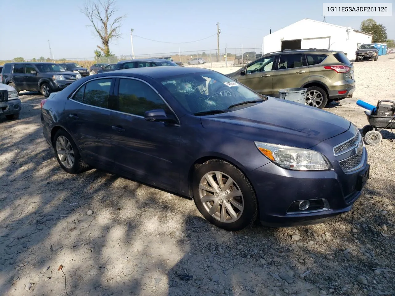
<path id="1" fill-rule="evenodd" d="M 0 116 L 7 119 L 18 119 L 22 110 L 22 103 L 18 92 L 12 86 L 0 83 Z"/>

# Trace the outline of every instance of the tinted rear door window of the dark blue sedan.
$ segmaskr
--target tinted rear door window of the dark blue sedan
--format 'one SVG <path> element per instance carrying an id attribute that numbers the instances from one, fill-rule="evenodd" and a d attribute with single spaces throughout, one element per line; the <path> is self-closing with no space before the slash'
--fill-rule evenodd
<path id="1" fill-rule="evenodd" d="M 83 103 L 96 107 L 107 108 L 111 81 L 111 78 L 107 78 L 88 82 L 85 85 Z"/>

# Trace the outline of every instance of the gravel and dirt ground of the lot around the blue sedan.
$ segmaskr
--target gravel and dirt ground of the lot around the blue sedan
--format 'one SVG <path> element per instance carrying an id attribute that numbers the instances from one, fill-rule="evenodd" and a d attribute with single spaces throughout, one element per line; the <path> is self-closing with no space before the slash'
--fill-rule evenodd
<path id="1" fill-rule="evenodd" d="M 325 110 L 362 128 L 357 99 L 395 99 L 394 55 L 355 63 L 355 79 L 354 97 Z M 395 295 L 390 132 L 367 146 L 371 178 L 352 211 L 226 232 L 184 197 L 100 170 L 67 174 L 42 136 L 42 97 L 21 99 L 21 119 L 0 119 L 0 295 Z"/>

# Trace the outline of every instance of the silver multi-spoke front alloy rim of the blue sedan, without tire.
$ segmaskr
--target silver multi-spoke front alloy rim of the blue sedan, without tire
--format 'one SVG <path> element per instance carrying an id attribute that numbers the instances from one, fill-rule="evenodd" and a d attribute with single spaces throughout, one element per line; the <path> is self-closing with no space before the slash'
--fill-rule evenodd
<path id="1" fill-rule="evenodd" d="M 218 221 L 232 223 L 243 214 L 243 193 L 239 185 L 223 172 L 208 172 L 201 178 L 199 198 L 205 210 Z"/>

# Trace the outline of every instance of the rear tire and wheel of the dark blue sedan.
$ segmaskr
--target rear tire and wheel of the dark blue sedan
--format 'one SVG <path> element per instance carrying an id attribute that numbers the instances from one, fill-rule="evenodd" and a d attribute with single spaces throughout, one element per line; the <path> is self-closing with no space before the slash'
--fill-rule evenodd
<path id="1" fill-rule="evenodd" d="M 56 132 L 53 139 L 53 148 L 60 167 L 69 174 L 79 174 L 90 169 L 90 166 L 82 160 L 77 145 L 64 129 L 59 129 Z M 65 148 L 68 150 L 68 154 L 65 156 L 64 161 L 62 161 L 63 158 L 61 157 L 63 157 L 65 154 L 58 152 L 66 151 Z M 70 157 L 73 157 L 74 161 L 72 161 L 73 159 Z"/>

